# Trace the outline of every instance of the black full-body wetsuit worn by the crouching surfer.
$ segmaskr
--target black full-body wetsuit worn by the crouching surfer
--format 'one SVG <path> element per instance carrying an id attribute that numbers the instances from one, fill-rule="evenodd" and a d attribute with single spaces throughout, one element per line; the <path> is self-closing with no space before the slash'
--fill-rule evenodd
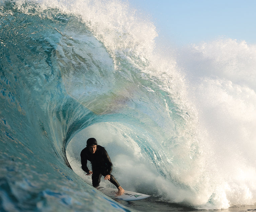
<path id="1" fill-rule="evenodd" d="M 116 181 L 113 175 L 111 175 L 113 165 L 104 147 L 97 145 L 97 149 L 94 154 L 90 153 L 88 148 L 84 148 L 80 154 L 82 169 L 89 173 L 87 167 L 87 160 L 92 164 L 92 185 L 98 187 L 101 176 L 110 175 L 110 182 L 113 183 L 116 188 L 120 185 Z"/>

